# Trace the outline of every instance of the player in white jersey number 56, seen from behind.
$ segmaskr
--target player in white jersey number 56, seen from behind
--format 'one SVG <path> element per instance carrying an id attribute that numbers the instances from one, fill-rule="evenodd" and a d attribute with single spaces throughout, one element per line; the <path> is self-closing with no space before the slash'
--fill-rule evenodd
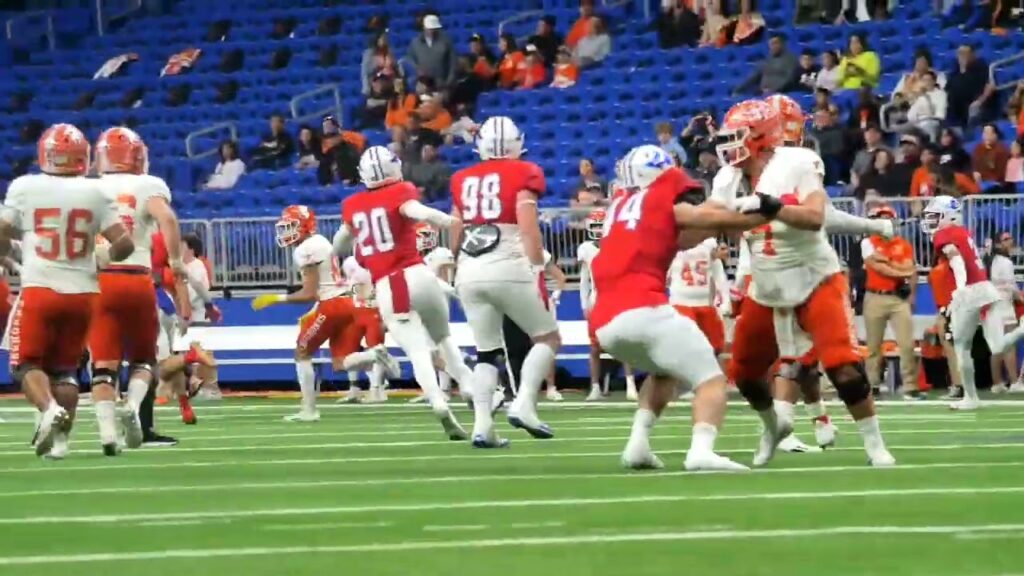
<path id="1" fill-rule="evenodd" d="M 10 183 L 0 216 L 0 257 L 14 238 L 23 241 L 24 257 L 22 294 L 6 340 L 11 376 L 41 414 L 36 454 L 62 458 L 78 407 L 75 375 L 99 292 L 97 262 L 122 261 L 135 245 L 115 199 L 99 180 L 82 177 L 91 162 L 89 141 L 78 128 L 51 126 L 38 153 L 42 173 Z M 103 250 L 96 250 L 96 235 L 110 243 Z"/>

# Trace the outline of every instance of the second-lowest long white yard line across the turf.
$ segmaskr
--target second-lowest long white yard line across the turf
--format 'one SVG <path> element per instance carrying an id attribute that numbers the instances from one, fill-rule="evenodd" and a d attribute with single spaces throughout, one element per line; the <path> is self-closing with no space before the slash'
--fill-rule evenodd
<path id="1" fill-rule="evenodd" d="M 752 500 L 814 500 L 837 498 L 882 498 L 902 496 L 977 496 L 979 494 L 1019 494 L 1024 486 L 967 487 L 967 488 L 907 488 L 890 490 L 846 490 L 835 492 L 764 492 L 746 494 L 665 494 L 646 496 L 616 496 L 610 498 L 549 498 L 537 500 L 481 500 L 471 502 L 421 502 L 409 504 L 381 504 L 365 506 L 323 506 L 306 508 L 256 508 L 245 510 L 190 510 L 181 512 L 87 515 L 87 516 L 37 516 L 0 518 L 0 526 L 29 526 L 52 524 L 118 524 L 139 522 L 165 522 L 176 520 L 223 520 L 244 518 L 275 518 L 283 516 L 328 516 L 387 512 L 420 512 L 432 510 L 479 508 L 536 508 L 545 506 L 600 506 L 614 504 L 649 504 L 657 502 L 716 502 Z"/>

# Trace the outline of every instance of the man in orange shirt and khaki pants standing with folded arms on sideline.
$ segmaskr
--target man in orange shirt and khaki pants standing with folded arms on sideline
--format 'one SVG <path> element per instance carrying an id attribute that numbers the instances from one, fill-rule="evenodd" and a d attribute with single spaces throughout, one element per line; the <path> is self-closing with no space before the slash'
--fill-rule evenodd
<path id="1" fill-rule="evenodd" d="M 879 205 L 871 218 L 895 218 L 888 205 Z M 913 353 L 913 300 L 918 266 L 913 248 L 906 240 L 871 236 L 860 242 L 867 273 L 864 294 L 864 328 L 867 332 L 867 380 L 878 388 L 882 380 L 882 342 L 886 326 L 892 325 L 899 347 L 900 376 L 905 393 L 916 390 L 918 359 Z"/>

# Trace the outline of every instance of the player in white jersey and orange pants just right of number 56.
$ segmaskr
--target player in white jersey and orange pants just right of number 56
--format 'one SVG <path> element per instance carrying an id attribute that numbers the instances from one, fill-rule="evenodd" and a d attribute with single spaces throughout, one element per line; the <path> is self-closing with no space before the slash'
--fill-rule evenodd
<path id="1" fill-rule="evenodd" d="M 115 401 L 121 362 L 129 366 L 127 402 L 121 411 L 129 448 L 142 444 L 138 412 L 156 385 L 160 325 L 153 288 L 154 233 L 159 230 L 167 244 L 175 278 L 183 280 L 186 270 L 171 191 L 164 180 L 146 173 L 148 155 L 142 138 L 124 127 L 105 130 L 96 140 L 96 168 L 100 188 L 117 203 L 121 222 L 135 244 L 130 257 L 100 268 L 99 299 L 89 327 L 93 408 L 103 453 L 113 456 L 118 453 Z M 182 298 L 186 296 L 179 295 L 179 301 Z"/>

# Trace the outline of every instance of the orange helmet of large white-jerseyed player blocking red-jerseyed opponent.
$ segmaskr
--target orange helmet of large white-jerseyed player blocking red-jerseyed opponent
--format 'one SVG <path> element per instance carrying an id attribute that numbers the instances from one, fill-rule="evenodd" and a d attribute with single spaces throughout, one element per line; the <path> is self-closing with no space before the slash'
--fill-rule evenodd
<path id="1" fill-rule="evenodd" d="M 736 166 L 782 146 L 782 121 L 764 100 L 744 100 L 729 109 L 715 146 L 723 164 Z"/>

